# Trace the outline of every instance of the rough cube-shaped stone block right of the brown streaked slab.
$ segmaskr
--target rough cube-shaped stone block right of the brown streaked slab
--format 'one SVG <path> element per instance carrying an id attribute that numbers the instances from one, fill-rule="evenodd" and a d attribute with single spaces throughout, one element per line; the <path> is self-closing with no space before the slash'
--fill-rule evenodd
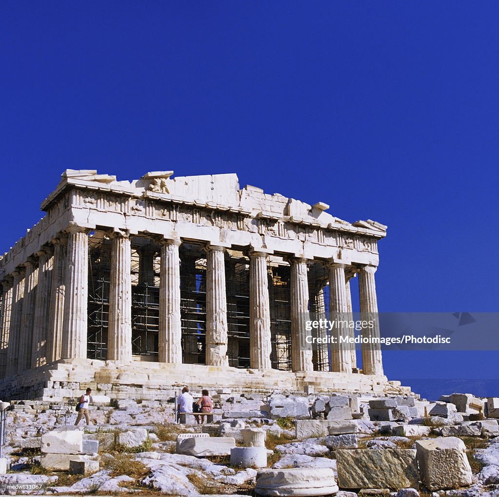
<path id="1" fill-rule="evenodd" d="M 416 450 L 421 481 L 432 492 L 472 484 L 466 446 L 461 439 L 446 437 L 418 440 Z"/>

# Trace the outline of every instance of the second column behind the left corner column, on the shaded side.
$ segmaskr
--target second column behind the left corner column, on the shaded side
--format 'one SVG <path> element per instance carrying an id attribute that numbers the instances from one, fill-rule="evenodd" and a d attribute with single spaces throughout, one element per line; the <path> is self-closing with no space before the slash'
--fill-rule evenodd
<path id="1" fill-rule="evenodd" d="M 50 282 L 52 277 L 52 258 L 48 248 L 36 252 L 38 256 L 38 284 L 34 306 L 33 341 L 31 343 L 31 367 L 46 363 L 46 342 Z"/>

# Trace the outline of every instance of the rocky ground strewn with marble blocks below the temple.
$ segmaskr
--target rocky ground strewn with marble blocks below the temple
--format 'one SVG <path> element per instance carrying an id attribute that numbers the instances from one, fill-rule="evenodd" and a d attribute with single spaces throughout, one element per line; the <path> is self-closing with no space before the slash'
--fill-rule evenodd
<path id="1" fill-rule="evenodd" d="M 75 427 L 73 406 L 17 401 L 0 492 L 499 497 L 498 413 L 498 398 L 471 394 L 225 393 L 213 424 L 174 424 L 172 402 L 119 400 Z"/>

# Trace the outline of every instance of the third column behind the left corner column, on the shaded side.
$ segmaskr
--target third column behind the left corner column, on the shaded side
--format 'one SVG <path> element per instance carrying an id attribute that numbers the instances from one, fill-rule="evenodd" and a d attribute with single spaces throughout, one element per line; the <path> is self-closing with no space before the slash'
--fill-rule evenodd
<path id="1" fill-rule="evenodd" d="M 21 373 L 31 367 L 31 345 L 33 342 L 34 306 L 36 285 L 38 282 L 38 266 L 33 258 L 23 263 L 26 268 L 24 276 L 24 298 L 22 300 L 22 316 L 19 334 L 19 360 L 17 372 Z"/>

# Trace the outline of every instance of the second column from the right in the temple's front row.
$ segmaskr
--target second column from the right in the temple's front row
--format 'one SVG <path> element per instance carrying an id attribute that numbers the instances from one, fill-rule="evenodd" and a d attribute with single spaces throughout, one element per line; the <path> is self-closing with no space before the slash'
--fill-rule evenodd
<path id="1" fill-rule="evenodd" d="M 348 303 L 345 286 L 345 267 L 343 263 L 330 263 L 329 269 L 329 316 L 330 321 L 348 321 Z M 350 336 L 350 330 L 345 324 L 333 326 L 331 335 L 336 340 L 331 343 L 331 371 L 338 373 L 352 372 L 352 354 L 348 343 L 342 338 Z"/>

